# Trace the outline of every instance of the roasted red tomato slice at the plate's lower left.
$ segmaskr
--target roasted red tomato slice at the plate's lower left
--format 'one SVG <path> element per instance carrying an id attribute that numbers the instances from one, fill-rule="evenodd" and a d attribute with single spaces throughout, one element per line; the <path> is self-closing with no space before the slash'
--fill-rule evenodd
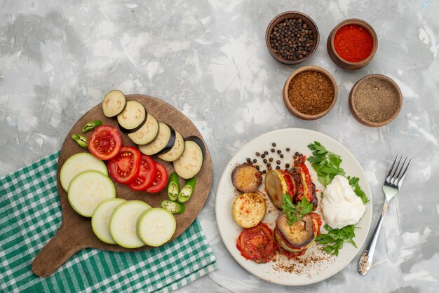
<path id="1" fill-rule="evenodd" d="M 236 240 L 236 248 L 245 259 L 258 264 L 269 262 L 276 253 L 273 231 L 262 222 L 252 228 L 244 229 Z"/>

